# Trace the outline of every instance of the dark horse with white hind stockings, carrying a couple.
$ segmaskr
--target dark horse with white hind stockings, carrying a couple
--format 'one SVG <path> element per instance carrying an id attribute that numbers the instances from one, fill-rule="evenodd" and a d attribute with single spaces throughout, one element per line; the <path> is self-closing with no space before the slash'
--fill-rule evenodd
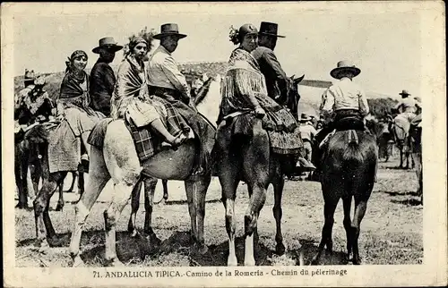
<path id="1" fill-rule="evenodd" d="M 298 99 L 297 85 L 299 79 L 289 79 L 289 97 Z M 247 183 L 249 205 L 245 214 L 245 265 L 254 266 L 254 240 L 257 238 L 257 221 L 266 199 L 266 191 L 270 184 L 274 188 L 273 216 L 276 222 L 275 241 L 276 252 L 283 254 L 285 245 L 281 233 L 281 198 L 284 187 L 284 175 L 290 173 L 295 162 L 288 161 L 284 156 L 271 153 L 271 144 L 267 131 L 262 127 L 262 121 L 254 115 L 241 114 L 247 120 L 251 136 L 233 135 L 225 122 L 218 126 L 215 148 L 217 159 L 217 174 L 222 188 L 222 203 L 225 208 L 226 230 L 228 233 L 228 266 L 237 266 L 235 251 L 235 233 L 237 218 L 235 216 L 235 199 L 237 185 L 240 181 Z M 244 122 L 244 118 L 240 118 Z M 249 123 L 252 123 L 250 125 Z M 231 126 L 231 125 L 230 125 Z M 255 235 L 255 237 L 254 237 Z"/>

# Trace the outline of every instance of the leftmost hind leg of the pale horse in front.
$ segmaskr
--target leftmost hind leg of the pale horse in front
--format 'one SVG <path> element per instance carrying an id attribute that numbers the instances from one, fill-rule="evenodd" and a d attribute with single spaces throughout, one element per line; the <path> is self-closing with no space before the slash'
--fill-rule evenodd
<path id="1" fill-rule="evenodd" d="M 110 179 L 102 151 L 99 148 L 92 147 L 90 154 L 90 165 L 92 165 L 93 169 L 90 172 L 89 185 L 78 203 L 74 206 L 75 220 L 72 239 L 70 241 L 70 255 L 73 258 L 73 267 L 83 265 L 82 259 L 79 256 L 82 228 L 85 219 L 90 213 L 90 209 L 99 197 L 99 193 L 104 189 L 104 186 L 106 186 Z"/>

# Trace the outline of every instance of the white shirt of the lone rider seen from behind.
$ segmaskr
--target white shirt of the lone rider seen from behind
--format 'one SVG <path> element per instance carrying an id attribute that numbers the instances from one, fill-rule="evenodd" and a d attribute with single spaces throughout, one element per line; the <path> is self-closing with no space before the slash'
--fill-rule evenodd
<path id="1" fill-rule="evenodd" d="M 342 109 L 358 110 L 362 115 L 369 112 L 366 93 L 347 77 L 334 83 L 322 95 L 322 112 L 332 114 Z"/>

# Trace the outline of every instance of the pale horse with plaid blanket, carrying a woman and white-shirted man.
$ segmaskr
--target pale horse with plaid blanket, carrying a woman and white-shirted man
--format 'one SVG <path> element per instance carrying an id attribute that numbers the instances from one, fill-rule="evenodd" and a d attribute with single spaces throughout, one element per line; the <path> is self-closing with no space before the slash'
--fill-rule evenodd
<path id="1" fill-rule="evenodd" d="M 195 101 L 198 111 L 214 123 L 219 114 L 220 81 L 212 79 L 207 95 L 203 97 L 202 102 L 200 100 Z M 205 253 L 208 249 L 204 244 L 203 219 L 205 195 L 211 182 L 211 174 L 202 175 L 195 179 L 190 177 L 196 149 L 194 141 L 189 140 L 178 147 L 177 150 L 169 149 L 159 152 L 141 166 L 134 148 L 134 141 L 125 127 L 125 122 L 115 120 L 109 123 L 104 135 L 103 147 L 98 148 L 93 145 L 90 147 L 89 185 L 87 185 L 86 191 L 75 206 L 74 229 L 70 243 L 73 266 L 83 265 L 82 258 L 79 255 L 82 227 L 90 209 L 110 179 L 114 183 L 114 188 L 112 199 L 108 208 L 104 211 L 106 224 L 105 258 L 111 266 L 122 265 L 116 258 L 116 222 L 131 198 L 133 188 L 139 182 L 143 168 L 145 173 L 151 174 L 153 179 L 182 180 L 185 182 L 193 244 L 197 245 L 200 253 Z M 153 199 L 155 185 L 148 188 L 148 191 L 145 192 L 150 193 L 150 198 Z M 151 216 L 149 225 L 151 226 Z"/>

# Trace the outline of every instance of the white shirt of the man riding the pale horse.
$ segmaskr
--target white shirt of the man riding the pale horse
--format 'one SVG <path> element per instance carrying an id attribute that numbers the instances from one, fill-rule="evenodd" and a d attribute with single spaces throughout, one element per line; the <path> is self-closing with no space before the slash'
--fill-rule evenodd
<path id="1" fill-rule="evenodd" d="M 190 89 L 185 76 L 180 72 L 176 60 L 163 46 L 159 46 L 151 56 L 148 65 L 148 84 L 175 89 L 184 97 L 190 97 Z"/>

